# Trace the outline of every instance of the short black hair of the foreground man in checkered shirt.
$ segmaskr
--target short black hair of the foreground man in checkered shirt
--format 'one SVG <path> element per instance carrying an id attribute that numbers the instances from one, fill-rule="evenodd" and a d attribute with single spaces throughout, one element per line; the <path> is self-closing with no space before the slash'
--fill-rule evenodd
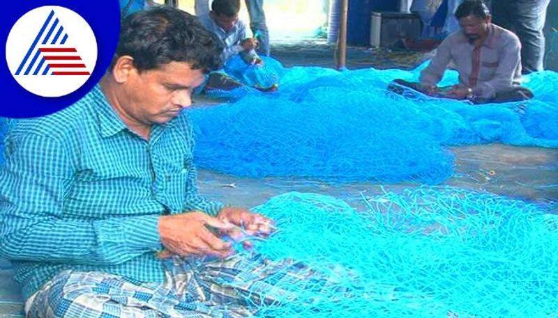
<path id="1" fill-rule="evenodd" d="M 171 62 L 186 62 L 204 73 L 218 70 L 223 47 L 197 17 L 171 6 L 138 11 L 121 22 L 111 69 L 120 56 L 131 56 L 141 71 Z"/>

